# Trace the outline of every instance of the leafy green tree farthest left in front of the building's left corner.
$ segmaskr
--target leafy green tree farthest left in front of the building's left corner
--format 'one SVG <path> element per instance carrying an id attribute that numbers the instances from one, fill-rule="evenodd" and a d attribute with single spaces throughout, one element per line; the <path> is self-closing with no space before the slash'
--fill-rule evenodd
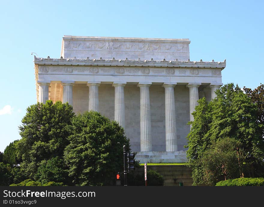
<path id="1" fill-rule="evenodd" d="M 68 145 L 68 125 L 74 116 L 72 106 L 56 101 L 37 103 L 27 108 L 26 116 L 19 126 L 22 137 L 15 143 L 21 169 L 28 178 L 34 179 L 43 160 L 58 156 L 62 158 Z"/>

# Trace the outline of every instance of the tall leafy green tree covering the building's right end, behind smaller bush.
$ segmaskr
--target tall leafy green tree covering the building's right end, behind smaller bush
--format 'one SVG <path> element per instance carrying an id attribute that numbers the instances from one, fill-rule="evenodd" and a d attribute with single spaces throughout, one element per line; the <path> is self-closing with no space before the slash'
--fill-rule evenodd
<path id="1" fill-rule="evenodd" d="M 205 181 L 203 156 L 211 156 L 208 150 L 215 150 L 215 143 L 227 137 L 241 143 L 237 152 L 246 154 L 244 165 L 239 163 L 240 176 L 260 176 L 257 172 L 263 163 L 264 149 L 259 136 L 261 130 L 256 123 L 256 104 L 233 83 L 222 86 L 216 94 L 217 97 L 208 105 L 204 100 L 199 100 L 193 113 L 194 121 L 189 122 L 192 129 L 187 136 L 187 158 L 193 169 L 194 185 L 210 183 L 208 177 Z M 217 179 L 216 176 L 211 176 L 211 183 L 215 182 L 213 179 Z"/>

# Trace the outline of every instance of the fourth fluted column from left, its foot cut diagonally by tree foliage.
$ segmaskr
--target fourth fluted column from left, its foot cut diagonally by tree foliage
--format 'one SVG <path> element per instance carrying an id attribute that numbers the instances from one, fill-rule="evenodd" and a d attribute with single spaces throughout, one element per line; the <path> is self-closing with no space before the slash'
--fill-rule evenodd
<path id="1" fill-rule="evenodd" d="M 124 87 L 127 82 L 113 82 L 115 87 L 115 120 L 125 131 L 125 96 Z"/>

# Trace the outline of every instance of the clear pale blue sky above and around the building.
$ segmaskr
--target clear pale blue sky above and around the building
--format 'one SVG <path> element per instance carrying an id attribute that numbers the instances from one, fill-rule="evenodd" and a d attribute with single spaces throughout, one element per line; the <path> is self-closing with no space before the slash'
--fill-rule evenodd
<path id="1" fill-rule="evenodd" d="M 263 1 L 2 1 L 0 151 L 36 103 L 34 53 L 60 58 L 63 35 L 189 38 L 190 60 L 223 61 L 222 82 L 264 82 Z"/>

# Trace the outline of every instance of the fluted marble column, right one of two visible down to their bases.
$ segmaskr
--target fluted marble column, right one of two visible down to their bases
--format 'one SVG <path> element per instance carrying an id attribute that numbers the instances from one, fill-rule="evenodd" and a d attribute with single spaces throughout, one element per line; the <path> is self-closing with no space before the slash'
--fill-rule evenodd
<path id="1" fill-rule="evenodd" d="M 164 83 L 165 88 L 165 140 L 166 152 L 178 151 L 176 135 L 176 110 L 174 87 L 176 83 Z"/>

